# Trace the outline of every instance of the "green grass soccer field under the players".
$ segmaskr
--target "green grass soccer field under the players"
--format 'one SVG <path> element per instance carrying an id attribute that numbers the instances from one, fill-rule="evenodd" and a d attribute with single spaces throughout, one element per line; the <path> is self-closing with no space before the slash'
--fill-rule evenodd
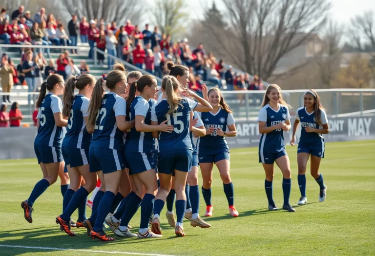
<path id="1" fill-rule="evenodd" d="M 213 217 L 205 218 L 211 228 L 193 228 L 184 221 L 187 236 L 177 238 L 174 229 L 167 225 L 164 209 L 163 238 L 118 238 L 109 243 L 91 240 L 84 229 L 78 229 L 75 237 L 60 231 L 55 223 L 55 217 L 62 212 L 59 181 L 34 204 L 34 222 L 26 222 L 21 201 L 27 199 L 42 172 L 36 159 L 3 160 L 0 161 L 0 256 L 375 255 L 374 148 L 374 140 L 327 143 L 326 158 L 320 167 L 328 187 L 327 199 L 319 203 L 319 187 L 308 174 L 309 203 L 295 207 L 295 213 L 267 210 L 264 171 L 258 163 L 257 148 L 231 150 L 231 177 L 239 217 L 230 217 L 223 185 L 215 169 Z M 291 203 L 296 205 L 300 197 L 296 147 L 288 147 L 287 151 L 292 164 Z M 283 197 L 281 184 L 281 172 L 276 169 L 273 195 L 279 207 Z M 200 207 L 200 214 L 204 216 L 202 197 Z M 90 213 L 87 208 L 87 215 Z M 77 218 L 76 213 L 73 218 Z M 130 224 L 139 226 L 139 213 Z M 81 251 L 62 251 L 68 248 Z"/>

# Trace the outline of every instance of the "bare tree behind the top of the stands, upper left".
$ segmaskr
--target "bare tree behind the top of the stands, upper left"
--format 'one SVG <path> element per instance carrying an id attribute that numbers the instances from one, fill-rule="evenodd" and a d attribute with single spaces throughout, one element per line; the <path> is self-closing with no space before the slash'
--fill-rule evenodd
<path id="1" fill-rule="evenodd" d="M 56 1 L 56 0 L 55 0 Z M 104 19 L 106 22 L 125 23 L 126 19 L 137 24 L 142 18 L 144 0 L 60 0 L 61 7 L 79 19 Z"/>

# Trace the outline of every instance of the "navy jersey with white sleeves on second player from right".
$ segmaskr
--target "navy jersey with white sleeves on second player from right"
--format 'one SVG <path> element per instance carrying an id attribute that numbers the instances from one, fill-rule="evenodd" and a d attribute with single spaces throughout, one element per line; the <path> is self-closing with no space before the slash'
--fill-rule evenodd
<path id="1" fill-rule="evenodd" d="M 273 110 L 269 104 L 262 107 L 259 111 L 258 121 L 267 122 L 266 126 L 274 126 L 279 122 L 285 123 L 290 120 L 289 109 L 287 106 L 279 104 L 277 111 Z M 260 151 L 264 153 L 276 153 L 285 149 L 284 135 L 282 129 L 273 130 L 270 133 L 262 134 L 259 141 Z"/>

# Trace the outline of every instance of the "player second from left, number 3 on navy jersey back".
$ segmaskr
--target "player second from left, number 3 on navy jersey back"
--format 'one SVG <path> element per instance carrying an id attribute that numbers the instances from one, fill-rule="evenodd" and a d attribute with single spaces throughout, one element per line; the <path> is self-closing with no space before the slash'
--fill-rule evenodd
<path id="1" fill-rule="evenodd" d="M 87 196 L 94 190 L 97 183 L 96 173 L 90 173 L 88 166 L 88 150 L 92 135 L 86 130 L 88 119 L 88 104 L 91 98 L 95 78 L 89 74 L 80 77 L 70 77 L 65 86 L 62 116 L 68 118 L 67 133 L 62 141 L 62 156 L 65 160 L 70 177 L 70 187 L 65 192 L 62 215 L 56 218 L 56 223 L 69 236 L 75 236 L 70 230 L 69 220 L 73 212 L 81 206 L 77 227 L 83 227 Z M 74 89 L 79 90 L 74 96 Z M 80 188 L 84 179 L 84 185 Z"/>

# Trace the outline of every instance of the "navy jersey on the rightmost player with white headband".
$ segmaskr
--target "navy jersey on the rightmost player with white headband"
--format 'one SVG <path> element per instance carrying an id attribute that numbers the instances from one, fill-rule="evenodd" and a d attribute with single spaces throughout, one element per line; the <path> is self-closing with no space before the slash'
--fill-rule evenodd
<path id="1" fill-rule="evenodd" d="M 320 123 L 327 124 L 327 114 L 321 109 Z M 295 118 L 301 123 L 301 137 L 299 138 L 299 144 L 305 146 L 321 146 L 324 143 L 323 135 L 317 133 L 308 133 L 305 131 L 305 127 L 310 126 L 315 129 L 322 129 L 323 126 L 319 125 L 315 120 L 314 112 L 307 113 L 306 107 L 301 107 L 295 112 Z"/>

